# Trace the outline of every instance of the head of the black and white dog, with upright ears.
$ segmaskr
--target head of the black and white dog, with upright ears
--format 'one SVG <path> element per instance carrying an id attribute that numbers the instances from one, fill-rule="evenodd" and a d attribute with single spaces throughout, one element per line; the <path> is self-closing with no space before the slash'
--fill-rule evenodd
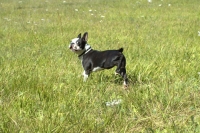
<path id="1" fill-rule="evenodd" d="M 85 51 L 85 46 L 87 44 L 88 39 L 88 33 L 85 32 L 84 35 L 81 37 L 81 33 L 78 35 L 77 38 L 72 39 L 69 49 L 71 49 L 72 52 L 80 55 Z"/>

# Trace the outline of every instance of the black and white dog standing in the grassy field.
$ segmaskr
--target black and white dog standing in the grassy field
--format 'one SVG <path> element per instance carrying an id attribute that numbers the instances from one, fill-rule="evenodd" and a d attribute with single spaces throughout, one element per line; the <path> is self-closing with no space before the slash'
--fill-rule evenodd
<path id="1" fill-rule="evenodd" d="M 80 33 L 77 38 L 72 39 L 69 45 L 71 51 L 78 54 L 78 57 L 82 62 L 84 68 L 84 81 L 87 80 L 91 72 L 110 69 L 117 66 L 115 74 L 122 76 L 124 79 L 124 87 L 127 87 L 126 58 L 122 54 L 123 48 L 120 48 L 119 50 L 97 51 L 93 50 L 91 46 L 87 44 L 87 40 L 88 33 L 85 32 L 82 37 Z"/>

